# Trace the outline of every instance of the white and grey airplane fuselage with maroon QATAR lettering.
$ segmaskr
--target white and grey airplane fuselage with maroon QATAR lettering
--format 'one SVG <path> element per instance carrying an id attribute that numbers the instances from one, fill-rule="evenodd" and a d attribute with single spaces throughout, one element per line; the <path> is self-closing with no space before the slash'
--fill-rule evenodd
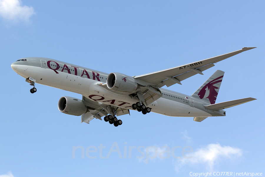
<path id="1" fill-rule="evenodd" d="M 41 66 L 44 61 L 47 66 Z M 113 92 L 97 85 L 106 82 L 107 73 L 47 58 L 38 61 L 36 59 L 34 64 L 31 64 L 30 60 L 27 62 L 26 64 L 15 62 L 11 67 L 24 78 L 34 78 L 35 83 L 79 93 L 93 101 L 131 110 L 132 104 L 138 101 L 136 98 L 128 96 L 127 93 Z M 38 62 L 39 66 L 36 65 Z M 163 88 L 160 90 L 163 96 L 148 105 L 154 113 L 174 117 L 221 116 L 221 114 L 213 115 L 213 111 L 206 110 L 203 107 L 203 105 L 208 105 L 206 102 L 171 90 Z"/>

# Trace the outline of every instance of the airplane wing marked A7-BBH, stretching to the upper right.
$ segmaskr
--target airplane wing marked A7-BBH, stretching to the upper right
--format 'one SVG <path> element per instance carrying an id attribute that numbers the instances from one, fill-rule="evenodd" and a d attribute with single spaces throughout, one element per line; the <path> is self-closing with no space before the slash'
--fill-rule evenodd
<path id="1" fill-rule="evenodd" d="M 201 74 L 203 71 L 214 66 L 213 63 L 220 62 L 226 58 L 232 57 L 241 52 L 254 49 L 256 47 L 244 47 L 240 50 L 230 52 L 227 54 L 219 55 L 193 63 L 188 63 L 178 67 L 169 68 L 157 72 L 152 72 L 144 75 L 135 76 L 134 78 L 143 80 L 145 82 L 153 83 L 154 86 L 160 88 L 166 85 L 167 87 L 176 83 L 181 84 L 180 81 L 185 80 L 193 75 Z"/>

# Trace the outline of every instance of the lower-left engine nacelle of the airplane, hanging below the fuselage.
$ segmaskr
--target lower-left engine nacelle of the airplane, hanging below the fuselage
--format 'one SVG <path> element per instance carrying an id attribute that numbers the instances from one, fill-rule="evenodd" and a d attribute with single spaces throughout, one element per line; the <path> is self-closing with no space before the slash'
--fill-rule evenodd
<path id="1" fill-rule="evenodd" d="M 62 113 L 78 116 L 87 112 L 84 102 L 74 97 L 61 97 L 58 102 L 58 109 Z"/>

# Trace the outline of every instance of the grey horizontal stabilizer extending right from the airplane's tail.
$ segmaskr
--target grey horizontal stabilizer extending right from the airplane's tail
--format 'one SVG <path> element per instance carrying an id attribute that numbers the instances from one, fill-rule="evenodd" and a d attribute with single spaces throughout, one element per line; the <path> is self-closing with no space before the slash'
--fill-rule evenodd
<path id="1" fill-rule="evenodd" d="M 232 101 L 226 101 L 226 102 L 216 103 L 216 104 L 212 104 L 212 105 L 203 105 L 203 106 L 209 110 L 223 110 L 223 109 L 226 109 L 228 107 L 241 105 L 243 103 L 253 101 L 253 100 L 256 100 L 256 99 L 249 97 L 249 98 L 242 98 L 239 100 L 232 100 Z"/>

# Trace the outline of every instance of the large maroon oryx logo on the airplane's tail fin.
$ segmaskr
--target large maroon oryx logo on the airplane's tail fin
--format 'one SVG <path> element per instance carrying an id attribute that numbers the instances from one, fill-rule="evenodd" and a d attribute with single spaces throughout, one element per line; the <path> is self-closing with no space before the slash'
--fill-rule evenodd
<path id="1" fill-rule="evenodd" d="M 216 92 L 215 89 L 218 89 L 218 87 L 215 87 L 214 85 L 216 83 L 219 83 L 219 82 L 222 82 L 222 80 L 219 80 L 221 79 L 223 76 L 220 76 L 220 77 L 217 77 L 216 79 L 210 81 L 208 84 L 206 84 L 201 90 L 200 92 L 198 93 L 198 96 L 203 99 L 204 96 L 205 96 L 205 93 L 206 93 L 206 89 L 208 88 L 207 91 L 209 91 L 209 96 L 206 97 L 209 99 L 210 103 L 211 104 L 214 104 L 215 101 L 216 101 L 216 97 L 217 97 L 217 94 L 218 92 Z"/>

